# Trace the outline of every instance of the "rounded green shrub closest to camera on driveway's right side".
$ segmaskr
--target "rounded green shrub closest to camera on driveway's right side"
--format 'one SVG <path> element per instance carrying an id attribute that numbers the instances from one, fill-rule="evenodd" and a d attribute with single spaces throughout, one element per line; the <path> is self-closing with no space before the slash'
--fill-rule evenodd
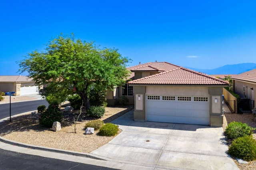
<path id="1" fill-rule="evenodd" d="M 256 140 L 254 140 L 252 136 L 243 136 L 237 138 L 230 145 L 228 154 L 248 161 L 255 160 Z"/>

